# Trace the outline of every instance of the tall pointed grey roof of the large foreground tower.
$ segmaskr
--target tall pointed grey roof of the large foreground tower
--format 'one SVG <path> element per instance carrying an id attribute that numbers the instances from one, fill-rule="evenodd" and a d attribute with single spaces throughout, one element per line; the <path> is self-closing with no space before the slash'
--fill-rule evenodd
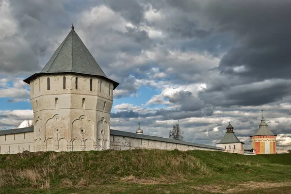
<path id="1" fill-rule="evenodd" d="M 74 27 L 41 72 L 75 72 L 106 77 Z"/>

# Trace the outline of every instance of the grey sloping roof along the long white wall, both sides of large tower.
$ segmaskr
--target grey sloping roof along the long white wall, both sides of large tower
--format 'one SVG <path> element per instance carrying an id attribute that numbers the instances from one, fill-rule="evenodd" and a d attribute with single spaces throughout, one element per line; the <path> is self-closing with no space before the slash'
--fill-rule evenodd
<path id="1" fill-rule="evenodd" d="M 9 134 L 16 134 L 16 133 L 24 133 L 24 132 L 33 132 L 33 127 L 0 130 L 0 135 L 9 135 Z M 204 147 L 204 148 L 211 148 L 211 149 L 217 149 L 217 150 L 224 150 L 223 148 L 216 147 L 216 146 L 195 144 L 195 143 L 191 143 L 191 142 L 184 142 L 184 141 L 173 140 L 173 139 L 157 137 L 157 136 L 151 136 L 151 135 L 136 134 L 136 133 L 126 132 L 126 131 L 121 131 L 121 130 L 114 130 L 114 129 L 110 129 L 110 135 L 125 136 L 125 137 L 137 138 L 137 139 L 162 141 L 162 142 L 168 142 L 168 143 L 183 144 L 183 145 L 187 145 L 187 146 L 196 146 L 196 147 Z"/>

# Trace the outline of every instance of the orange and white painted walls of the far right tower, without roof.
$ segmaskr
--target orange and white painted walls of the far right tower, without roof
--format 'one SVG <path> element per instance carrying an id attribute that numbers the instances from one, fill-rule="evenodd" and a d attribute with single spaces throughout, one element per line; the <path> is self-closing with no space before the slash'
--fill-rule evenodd
<path id="1" fill-rule="evenodd" d="M 276 136 L 275 135 L 257 135 L 251 137 L 252 148 L 255 154 L 275 154 Z"/>

